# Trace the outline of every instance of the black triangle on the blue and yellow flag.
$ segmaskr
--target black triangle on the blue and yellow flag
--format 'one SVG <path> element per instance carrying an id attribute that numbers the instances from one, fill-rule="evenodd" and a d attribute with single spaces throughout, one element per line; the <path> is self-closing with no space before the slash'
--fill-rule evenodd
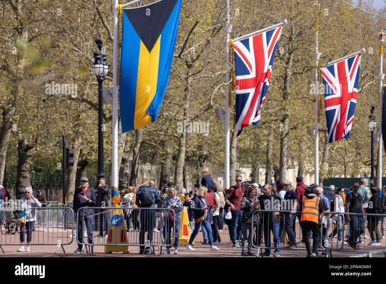
<path id="1" fill-rule="evenodd" d="M 177 0 L 160 0 L 138 8 L 123 9 L 149 53 L 169 20 Z"/>

